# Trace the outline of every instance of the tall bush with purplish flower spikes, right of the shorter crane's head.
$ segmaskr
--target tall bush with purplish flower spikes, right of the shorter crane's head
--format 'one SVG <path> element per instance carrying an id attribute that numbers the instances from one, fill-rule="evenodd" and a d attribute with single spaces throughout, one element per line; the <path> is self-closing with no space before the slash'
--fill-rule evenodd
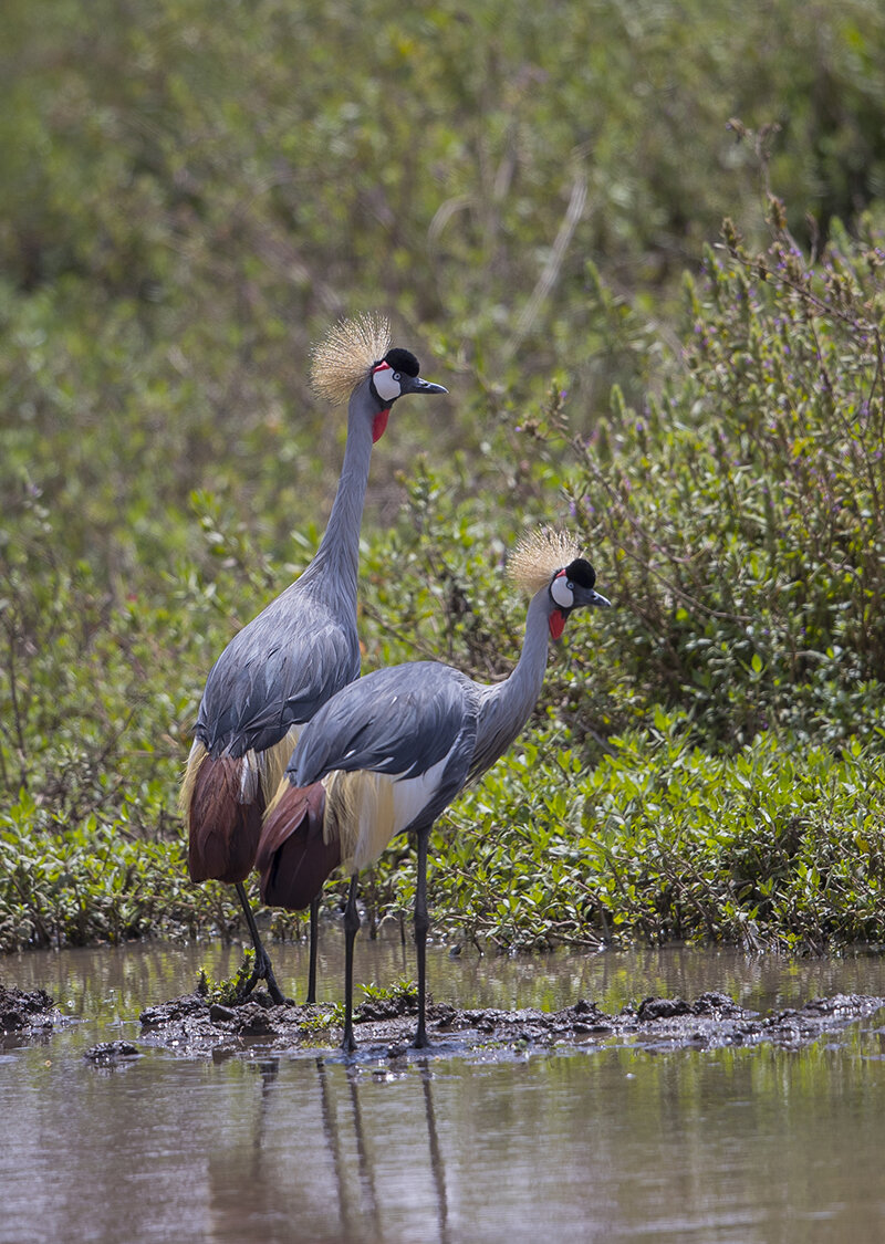
<path id="1" fill-rule="evenodd" d="M 808 262 L 773 215 L 762 254 L 727 223 L 682 374 L 639 412 L 615 391 L 566 485 L 622 606 L 602 663 L 707 744 L 881 714 L 885 239 L 834 226 Z"/>

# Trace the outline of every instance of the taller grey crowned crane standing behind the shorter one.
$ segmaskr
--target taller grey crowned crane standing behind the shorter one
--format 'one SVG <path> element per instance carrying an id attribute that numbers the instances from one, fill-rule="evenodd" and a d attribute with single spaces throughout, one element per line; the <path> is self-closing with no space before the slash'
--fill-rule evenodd
<path id="1" fill-rule="evenodd" d="M 234 636 L 203 692 L 179 797 L 188 871 L 192 881 L 213 877 L 236 887 L 255 945 L 244 995 L 264 979 L 274 1001 L 284 1000 L 243 882 L 255 862 L 268 800 L 304 724 L 360 675 L 356 576 L 372 444 L 398 398 L 446 393 L 418 373 L 413 353 L 391 350 L 387 321 L 377 316 L 342 321 L 316 347 L 314 389 L 332 403 L 349 402 L 347 444 L 329 525 L 304 573 Z M 315 980 L 316 903 L 309 1000 Z"/>

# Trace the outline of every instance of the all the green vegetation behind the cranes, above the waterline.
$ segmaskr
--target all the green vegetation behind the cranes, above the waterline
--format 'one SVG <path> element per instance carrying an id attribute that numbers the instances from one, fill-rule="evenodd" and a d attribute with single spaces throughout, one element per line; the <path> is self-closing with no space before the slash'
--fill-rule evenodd
<path id="1" fill-rule="evenodd" d="M 439 824 L 434 929 L 885 940 L 881 5 L 2 21 L 0 948 L 239 927 L 178 776 L 325 524 L 309 343 L 375 307 L 452 397 L 373 455 L 365 668 L 505 674 L 527 524 L 617 605 Z M 410 908 L 406 842 L 362 894 Z"/>

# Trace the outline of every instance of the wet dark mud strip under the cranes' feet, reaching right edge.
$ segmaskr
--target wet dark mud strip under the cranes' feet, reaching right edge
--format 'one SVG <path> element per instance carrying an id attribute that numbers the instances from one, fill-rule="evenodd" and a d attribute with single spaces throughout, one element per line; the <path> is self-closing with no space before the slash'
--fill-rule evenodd
<path id="1" fill-rule="evenodd" d="M 770 1015 L 738 1006 L 724 994 L 706 993 L 693 1003 L 646 998 L 609 1015 L 588 1000 L 560 1011 L 461 1010 L 447 1003 L 427 1008 L 431 1055 L 504 1059 L 551 1049 L 629 1045 L 646 1050 L 709 1050 L 770 1042 L 799 1049 L 825 1033 L 868 1018 L 884 998 L 836 994 L 797 1010 Z M 355 1010 L 357 1057 L 398 1057 L 414 1033 L 413 1008 L 402 1000 L 368 1001 Z M 275 1006 L 259 994 L 241 1006 L 207 1003 L 199 994 L 151 1006 L 141 1015 L 142 1041 L 189 1056 L 230 1057 L 250 1050 L 334 1051 L 341 1040 L 334 1008 Z"/>

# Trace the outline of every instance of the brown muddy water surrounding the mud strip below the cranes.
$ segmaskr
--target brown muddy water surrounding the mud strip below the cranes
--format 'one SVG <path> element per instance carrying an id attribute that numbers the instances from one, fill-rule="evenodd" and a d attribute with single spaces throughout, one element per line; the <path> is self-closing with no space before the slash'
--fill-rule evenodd
<path id="1" fill-rule="evenodd" d="M 321 995 L 339 995 L 324 938 Z M 236 950 L 31 954 L 0 979 L 44 986 L 76 1023 L 0 1052 L 0 1242 L 885 1239 L 885 1014 L 799 1051 L 592 1051 L 347 1065 L 193 1060 L 161 1049 L 115 1070 L 96 1041 L 138 1042 L 138 1011 Z M 302 991 L 304 957 L 278 949 Z M 413 973 L 398 943 L 360 945 L 357 979 Z M 885 995 L 885 963 L 668 952 L 429 957 L 438 999 L 607 1011 L 708 989 L 762 1011 Z"/>

